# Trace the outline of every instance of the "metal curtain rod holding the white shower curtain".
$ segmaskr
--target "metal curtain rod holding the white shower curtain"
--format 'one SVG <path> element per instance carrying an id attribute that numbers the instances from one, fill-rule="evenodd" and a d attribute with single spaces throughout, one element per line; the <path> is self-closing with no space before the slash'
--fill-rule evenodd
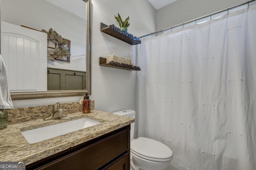
<path id="1" fill-rule="evenodd" d="M 220 11 L 211 13 L 211 14 L 208 14 L 208 15 L 206 15 L 206 16 L 202 16 L 202 17 L 196 18 L 196 19 L 194 19 L 194 20 L 186 21 L 186 22 L 183 22 L 183 23 L 174 25 L 174 26 L 172 26 L 172 27 L 167 27 L 167 28 L 165 28 L 165 29 L 161 29 L 161 30 L 159 30 L 159 31 L 156 31 L 156 32 L 153 32 L 153 33 L 150 33 L 150 34 L 143 35 L 143 36 L 141 36 L 141 37 L 139 37 L 139 38 L 146 37 L 146 36 L 148 36 L 148 35 L 153 35 L 153 34 L 155 34 L 155 33 L 160 33 L 160 32 L 162 32 L 162 31 L 166 31 L 166 30 L 168 30 L 168 29 L 172 29 L 172 28 L 175 28 L 175 27 L 178 27 L 178 26 L 181 26 L 181 25 L 185 25 L 185 24 L 190 23 L 190 22 L 194 22 L 194 21 L 196 22 L 197 20 L 201 20 L 201 19 L 203 19 L 203 18 L 212 16 L 212 15 L 214 15 L 214 14 L 218 14 L 218 13 L 221 13 L 221 12 L 224 12 L 224 11 L 228 11 L 228 10 L 230 10 L 230 9 L 233 9 L 233 8 L 238 7 L 238 6 L 245 5 L 245 4 L 248 4 L 248 8 L 249 8 L 249 4 L 250 4 L 251 2 L 253 2 L 253 1 L 256 1 L 256 0 L 250 0 L 250 1 L 248 1 L 248 2 L 244 2 L 244 3 L 238 4 L 238 5 L 232 6 L 232 7 L 230 7 L 230 8 L 226 8 L 226 9 L 224 9 L 224 10 L 220 10 Z"/>

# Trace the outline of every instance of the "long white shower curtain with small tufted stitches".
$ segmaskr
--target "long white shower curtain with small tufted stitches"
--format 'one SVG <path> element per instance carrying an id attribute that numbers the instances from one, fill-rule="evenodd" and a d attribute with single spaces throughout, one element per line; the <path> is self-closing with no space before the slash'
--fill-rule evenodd
<path id="1" fill-rule="evenodd" d="M 256 170 L 256 5 L 142 39 L 139 65 L 138 137 L 170 167 Z"/>

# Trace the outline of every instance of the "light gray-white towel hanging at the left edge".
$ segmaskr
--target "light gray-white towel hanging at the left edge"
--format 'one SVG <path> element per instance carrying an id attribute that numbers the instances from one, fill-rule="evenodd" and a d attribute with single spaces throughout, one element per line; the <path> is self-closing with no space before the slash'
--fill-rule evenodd
<path id="1" fill-rule="evenodd" d="M 8 89 L 8 75 L 3 58 L 0 55 L 0 109 L 13 109 Z"/>

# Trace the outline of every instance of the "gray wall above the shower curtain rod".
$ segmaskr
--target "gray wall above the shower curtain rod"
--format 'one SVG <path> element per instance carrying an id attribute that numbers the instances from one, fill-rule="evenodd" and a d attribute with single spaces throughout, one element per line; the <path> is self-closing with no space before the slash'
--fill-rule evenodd
<path id="1" fill-rule="evenodd" d="M 156 29 L 161 30 L 186 21 L 247 2 L 245 0 L 178 0 L 156 12 Z"/>

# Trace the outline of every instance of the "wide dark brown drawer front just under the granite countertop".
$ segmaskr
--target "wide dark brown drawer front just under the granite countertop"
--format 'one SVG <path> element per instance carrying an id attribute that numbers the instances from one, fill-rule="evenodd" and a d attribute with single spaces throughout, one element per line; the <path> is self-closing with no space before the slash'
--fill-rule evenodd
<path id="1" fill-rule="evenodd" d="M 130 151 L 129 129 L 72 152 L 38 169 L 95 170 Z"/>

